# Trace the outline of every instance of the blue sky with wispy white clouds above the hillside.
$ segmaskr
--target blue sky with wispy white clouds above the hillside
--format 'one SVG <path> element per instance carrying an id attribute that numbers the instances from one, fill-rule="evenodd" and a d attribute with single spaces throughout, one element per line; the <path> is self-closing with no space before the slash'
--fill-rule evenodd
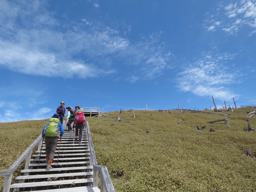
<path id="1" fill-rule="evenodd" d="M 255 0 L 1 0 L 0 122 L 256 104 L 255 51 Z"/>

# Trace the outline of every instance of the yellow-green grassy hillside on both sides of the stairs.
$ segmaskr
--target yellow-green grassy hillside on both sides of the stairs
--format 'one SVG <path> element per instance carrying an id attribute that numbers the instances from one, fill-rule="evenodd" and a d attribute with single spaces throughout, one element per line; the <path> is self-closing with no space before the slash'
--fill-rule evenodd
<path id="1" fill-rule="evenodd" d="M 108 112 L 86 120 L 98 164 L 107 166 L 117 192 L 256 191 L 256 159 L 243 155 L 248 148 L 256 153 L 256 131 L 244 131 L 246 111 L 252 107 L 231 112 L 231 126 L 206 123 L 224 116 L 178 110 L 134 111 L 135 118 L 129 111 Z M 123 121 L 115 121 L 117 116 Z M 249 119 L 256 128 L 255 117 Z M 0 124 L 1 169 L 10 167 L 46 122 Z M 199 131 L 196 125 L 206 127 Z M 208 132 L 210 126 L 215 132 Z"/>

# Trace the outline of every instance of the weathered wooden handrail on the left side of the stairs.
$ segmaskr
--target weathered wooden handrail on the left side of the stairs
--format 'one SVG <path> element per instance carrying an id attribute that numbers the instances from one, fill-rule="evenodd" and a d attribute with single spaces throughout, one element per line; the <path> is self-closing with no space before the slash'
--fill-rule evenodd
<path id="1" fill-rule="evenodd" d="M 10 186 L 12 182 L 12 173 L 17 169 L 17 167 L 22 163 L 22 161 L 31 156 L 31 152 L 34 147 L 36 147 L 36 144 L 42 140 L 42 135 L 39 135 L 37 139 L 22 153 L 22 155 L 11 165 L 11 167 L 7 170 L 0 170 L 0 176 L 5 176 L 4 179 L 4 187 L 3 192 L 9 192 Z M 28 162 L 28 161 L 26 161 Z"/>

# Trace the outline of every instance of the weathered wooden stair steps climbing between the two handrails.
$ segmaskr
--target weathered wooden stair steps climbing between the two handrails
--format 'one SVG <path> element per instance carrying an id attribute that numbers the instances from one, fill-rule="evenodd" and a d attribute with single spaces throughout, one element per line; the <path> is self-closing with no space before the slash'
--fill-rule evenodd
<path id="1" fill-rule="evenodd" d="M 10 191 L 100 192 L 98 187 L 93 187 L 93 166 L 90 165 L 86 129 L 83 130 L 82 143 L 78 144 L 78 140 L 74 139 L 75 132 L 68 132 L 65 120 L 63 128 L 64 135 L 58 141 L 52 161 L 53 168 L 45 169 L 47 163 L 43 142 L 42 149 L 39 146 L 31 156 L 28 169 L 21 170 L 22 176 L 15 178 L 17 183 L 11 185 Z"/>

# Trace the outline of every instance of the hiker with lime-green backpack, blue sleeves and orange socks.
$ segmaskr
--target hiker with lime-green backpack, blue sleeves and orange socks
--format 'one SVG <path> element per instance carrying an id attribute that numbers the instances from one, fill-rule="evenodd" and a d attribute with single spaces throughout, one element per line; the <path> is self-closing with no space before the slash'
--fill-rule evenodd
<path id="1" fill-rule="evenodd" d="M 49 122 L 44 126 L 42 131 L 42 137 L 45 138 L 45 163 L 48 163 L 46 169 L 52 169 L 51 164 L 58 145 L 58 138 L 61 139 L 63 134 L 64 130 L 62 124 L 60 123 L 60 116 L 58 113 L 55 113 Z"/>

